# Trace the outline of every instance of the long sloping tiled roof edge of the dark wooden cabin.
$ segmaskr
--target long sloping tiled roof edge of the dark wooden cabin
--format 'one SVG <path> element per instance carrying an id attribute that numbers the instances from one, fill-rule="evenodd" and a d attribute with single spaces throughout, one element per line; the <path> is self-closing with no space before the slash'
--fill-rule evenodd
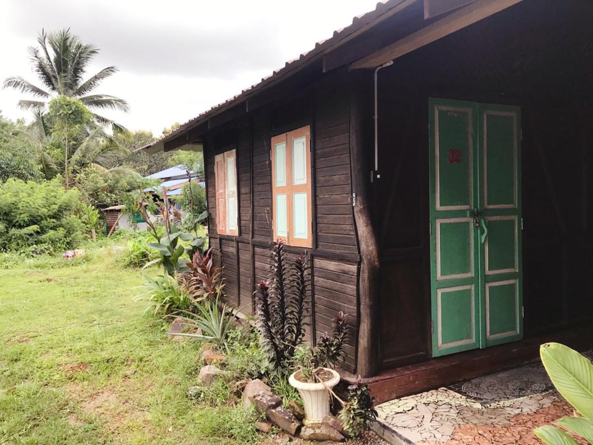
<path id="1" fill-rule="evenodd" d="M 307 52 L 302 53 L 298 58 L 292 59 L 285 63 L 282 68 L 275 69 L 272 74 L 267 77 L 262 78 L 257 84 L 251 85 L 251 87 L 246 88 L 245 90 L 241 91 L 240 94 L 236 94 L 235 96 L 221 102 L 211 109 L 206 110 L 205 112 L 200 113 L 193 119 L 188 120 L 187 122 L 180 125 L 176 131 L 171 132 L 168 135 L 162 136 L 160 139 L 157 139 L 151 144 L 144 145 L 143 147 L 139 147 L 136 150 L 142 150 L 144 148 L 152 147 L 156 144 L 163 143 L 165 141 L 169 141 L 171 139 L 176 138 L 176 136 L 180 135 L 184 131 L 192 128 L 193 126 L 199 125 L 199 123 L 206 120 L 211 115 L 214 115 L 216 112 L 221 112 L 222 110 L 231 107 L 235 104 L 240 103 L 244 98 L 246 98 L 250 94 L 254 94 L 257 90 L 266 87 L 267 85 L 271 84 L 279 80 L 280 77 L 285 75 L 291 74 L 291 72 L 295 72 L 300 68 L 304 68 L 309 62 L 313 62 L 314 60 L 318 59 L 328 50 L 333 49 L 334 46 L 340 45 L 343 40 L 347 37 L 352 36 L 352 34 L 356 33 L 357 31 L 363 30 L 369 24 L 372 24 L 374 21 L 380 20 L 381 16 L 389 12 L 391 9 L 396 8 L 398 5 L 409 2 L 409 0 L 380 0 L 377 3 L 377 7 L 373 11 L 366 12 L 365 14 L 356 15 L 352 19 L 352 24 L 345 28 L 341 28 L 333 32 L 333 35 L 326 40 L 321 40 L 320 42 L 315 43 L 315 47 Z"/>

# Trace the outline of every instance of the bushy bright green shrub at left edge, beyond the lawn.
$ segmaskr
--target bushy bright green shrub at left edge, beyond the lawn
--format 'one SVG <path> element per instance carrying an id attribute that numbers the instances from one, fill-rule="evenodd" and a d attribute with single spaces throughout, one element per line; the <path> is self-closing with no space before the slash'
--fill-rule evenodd
<path id="1" fill-rule="evenodd" d="M 78 217 L 81 206 L 78 190 L 63 189 L 58 179 L 0 183 L 0 249 L 37 245 L 44 252 L 59 252 L 75 247 L 85 228 Z"/>

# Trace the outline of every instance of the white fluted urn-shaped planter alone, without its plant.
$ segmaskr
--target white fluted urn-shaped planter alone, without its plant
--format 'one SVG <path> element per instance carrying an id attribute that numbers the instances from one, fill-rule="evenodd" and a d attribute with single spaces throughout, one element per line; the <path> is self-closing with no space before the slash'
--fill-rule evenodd
<path id="1" fill-rule="evenodd" d="M 327 388 L 333 388 L 340 382 L 340 374 L 330 368 L 322 368 L 333 374 L 330 380 L 324 383 L 305 383 L 295 379 L 292 373 L 288 377 L 288 383 L 297 388 L 305 408 L 305 425 L 319 423 L 326 415 L 330 414 L 330 393 Z M 325 386 L 324 386 L 325 384 Z"/>

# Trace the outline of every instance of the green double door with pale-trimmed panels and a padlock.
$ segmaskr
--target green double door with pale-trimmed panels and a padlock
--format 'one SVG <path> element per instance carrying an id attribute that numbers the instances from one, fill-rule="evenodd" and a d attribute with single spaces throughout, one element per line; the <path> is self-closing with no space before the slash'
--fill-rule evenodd
<path id="1" fill-rule="evenodd" d="M 518 107 L 430 100 L 433 357 L 522 338 Z"/>

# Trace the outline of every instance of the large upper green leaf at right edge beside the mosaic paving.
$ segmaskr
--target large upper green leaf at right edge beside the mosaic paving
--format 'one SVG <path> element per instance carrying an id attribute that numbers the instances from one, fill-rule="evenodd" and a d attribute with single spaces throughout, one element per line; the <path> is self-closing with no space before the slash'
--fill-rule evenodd
<path id="1" fill-rule="evenodd" d="M 593 418 L 593 364 L 559 343 L 540 347 L 541 362 L 558 392 L 586 418 Z"/>

